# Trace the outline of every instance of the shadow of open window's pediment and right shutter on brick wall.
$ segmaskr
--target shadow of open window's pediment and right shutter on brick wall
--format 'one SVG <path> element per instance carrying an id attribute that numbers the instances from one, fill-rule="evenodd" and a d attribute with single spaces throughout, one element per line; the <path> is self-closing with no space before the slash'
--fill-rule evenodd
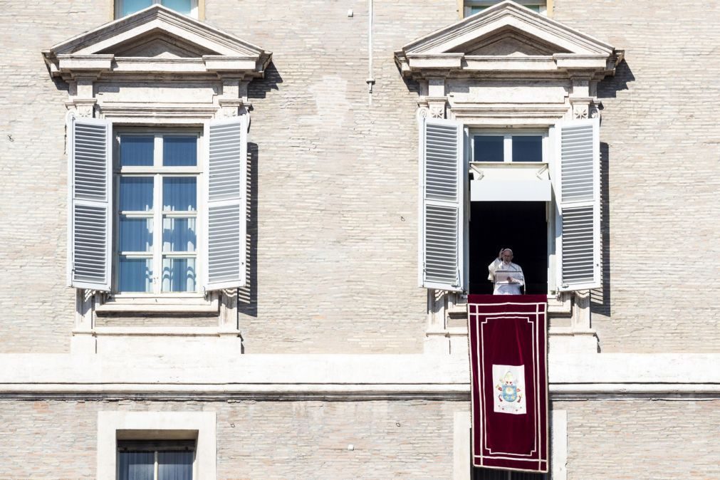
<path id="1" fill-rule="evenodd" d="M 617 92 L 629 90 L 635 76 L 625 60 L 618 63 L 615 76 L 598 83 L 598 99 L 614 99 Z M 602 128 L 600 130 L 602 137 Z M 600 142 L 600 235 L 602 242 L 603 286 L 590 292 L 590 311 L 610 317 L 611 314 L 611 245 L 610 245 L 610 145 Z"/>

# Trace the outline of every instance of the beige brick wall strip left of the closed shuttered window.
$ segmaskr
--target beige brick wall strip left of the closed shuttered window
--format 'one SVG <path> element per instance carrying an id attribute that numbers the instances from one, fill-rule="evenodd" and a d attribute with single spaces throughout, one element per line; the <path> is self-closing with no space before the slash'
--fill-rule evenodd
<path id="1" fill-rule="evenodd" d="M 107 22 L 104 2 L 5 1 L 0 8 L 0 351 L 67 352 L 67 86 L 41 50 Z M 11 140 L 12 138 L 12 140 Z"/>

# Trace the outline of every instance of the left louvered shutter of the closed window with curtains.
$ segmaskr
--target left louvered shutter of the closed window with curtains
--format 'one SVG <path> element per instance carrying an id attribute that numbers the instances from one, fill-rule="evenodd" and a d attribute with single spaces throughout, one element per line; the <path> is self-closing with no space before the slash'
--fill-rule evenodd
<path id="1" fill-rule="evenodd" d="M 110 123 L 68 119 L 68 285 L 109 291 L 112 243 Z"/>

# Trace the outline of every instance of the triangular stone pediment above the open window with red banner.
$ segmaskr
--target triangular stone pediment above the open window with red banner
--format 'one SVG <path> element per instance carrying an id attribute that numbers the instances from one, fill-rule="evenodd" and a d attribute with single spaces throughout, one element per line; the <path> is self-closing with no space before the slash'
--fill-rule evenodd
<path id="1" fill-rule="evenodd" d="M 534 64 L 518 63 L 521 58 L 532 58 Z M 395 53 L 405 75 L 428 69 L 549 71 L 553 69 L 550 63 L 555 69 L 582 66 L 602 71 L 607 62 L 617 58 L 606 42 L 511 0 L 413 40 Z M 495 66 L 490 67 L 490 63 Z"/>

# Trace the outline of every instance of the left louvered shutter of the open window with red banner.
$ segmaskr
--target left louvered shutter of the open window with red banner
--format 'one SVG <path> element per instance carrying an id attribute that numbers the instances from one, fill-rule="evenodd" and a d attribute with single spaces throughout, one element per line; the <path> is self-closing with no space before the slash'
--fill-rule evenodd
<path id="1" fill-rule="evenodd" d="M 462 124 L 420 120 L 420 286 L 464 291 L 464 160 Z"/>

